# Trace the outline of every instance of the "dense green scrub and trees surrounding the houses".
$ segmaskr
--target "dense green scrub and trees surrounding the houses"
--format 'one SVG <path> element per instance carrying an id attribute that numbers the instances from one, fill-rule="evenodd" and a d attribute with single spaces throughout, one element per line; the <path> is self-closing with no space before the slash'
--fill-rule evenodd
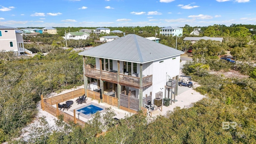
<path id="1" fill-rule="evenodd" d="M 158 116 L 148 123 L 142 114 L 120 120 L 112 126 L 112 118 L 94 115 L 94 119 L 84 128 L 74 124 L 64 124 L 62 118 L 56 122 L 59 129 L 50 132 L 42 118 L 42 128 L 35 129 L 28 143 L 256 143 L 256 45 L 254 25 L 214 25 L 201 27 L 200 36 L 223 37 L 222 43 L 200 40 L 192 45 L 184 42 L 193 28 L 185 25 L 184 36 L 179 37 L 177 49 L 193 48 L 193 62 L 184 66 L 183 72 L 192 76 L 201 86 L 196 90 L 206 94 L 206 98 L 196 102 L 192 108 L 175 108 L 167 116 Z M 0 53 L 0 142 L 10 141 L 20 135 L 20 130 L 34 118 L 40 94 L 46 95 L 58 90 L 83 84 L 82 57 L 72 49 L 62 50 L 65 41 L 64 30 L 78 31 L 82 28 L 57 28 L 58 34 L 40 34 L 25 37 L 32 43 L 25 48 L 38 52 L 33 58 L 16 58 L 12 53 Z M 94 28 L 88 28 L 94 29 Z M 159 28 L 112 27 L 126 34 L 143 37 L 155 36 Z M 102 34 L 103 36 L 106 34 Z M 111 35 L 111 34 L 110 34 Z M 99 38 L 94 34 L 88 40 L 70 40 L 68 47 L 81 48 L 94 45 Z M 119 34 L 118 36 L 122 36 Z M 176 37 L 157 36 L 161 43 L 176 47 Z M 218 56 L 227 50 L 237 60 L 235 64 L 219 60 Z M 42 53 L 47 52 L 47 55 Z M 86 63 L 94 63 L 88 58 Z M 226 78 L 213 75 L 210 71 L 236 70 L 251 78 Z M 112 115 L 111 110 L 108 114 Z M 100 123 L 104 121 L 104 124 Z M 222 129 L 222 122 L 236 122 L 236 129 Z M 107 131 L 104 136 L 97 136 Z M 13 143 L 26 143 L 16 140 Z"/>

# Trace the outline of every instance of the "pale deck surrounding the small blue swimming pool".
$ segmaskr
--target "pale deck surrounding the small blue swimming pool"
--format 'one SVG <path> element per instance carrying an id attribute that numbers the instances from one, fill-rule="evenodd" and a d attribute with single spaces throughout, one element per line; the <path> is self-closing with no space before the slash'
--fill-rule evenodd
<path id="1" fill-rule="evenodd" d="M 105 108 L 109 108 L 109 107 L 111 107 L 113 110 L 114 110 L 114 112 L 116 113 L 116 116 L 114 116 L 114 118 L 118 118 L 118 119 L 122 119 L 122 118 L 124 118 L 126 115 L 132 115 L 132 113 L 130 113 L 130 112 L 126 112 L 126 111 L 124 111 L 124 110 L 120 110 L 120 109 L 118 109 L 118 107 L 116 107 L 116 106 L 112 106 L 112 105 L 109 105 L 109 104 L 106 104 L 106 103 L 99 103 L 99 101 L 98 100 L 92 100 L 91 98 L 86 98 L 87 99 L 87 101 L 86 101 L 86 103 L 82 103 L 82 104 L 77 104 L 76 103 L 76 100 L 77 100 L 78 98 L 74 98 L 74 99 L 71 99 L 73 102 L 74 102 L 74 104 L 72 104 L 71 105 L 71 108 L 70 109 L 68 109 L 68 110 L 62 110 L 63 112 L 66 112 L 67 114 L 70 114 L 70 115 L 72 115 L 72 116 L 74 116 L 74 109 L 75 110 L 79 110 L 79 109 L 81 109 L 81 108 L 84 108 L 84 107 L 86 107 L 86 106 L 89 106 L 89 105 L 94 105 L 94 106 L 98 106 L 99 108 L 103 108 L 104 110 L 101 110 L 100 112 L 101 113 L 104 113 L 105 112 Z M 60 103 L 60 104 L 65 104 L 66 102 L 62 102 L 62 103 Z M 54 104 L 54 105 L 52 105 L 52 106 L 54 106 L 55 108 L 56 108 L 56 105 Z M 59 109 L 60 110 L 60 109 Z M 80 113 L 80 112 L 78 112 L 78 111 L 76 111 L 76 118 L 78 118 L 78 119 L 80 119 L 80 120 L 82 120 L 82 121 L 84 121 L 84 122 L 88 122 L 88 120 L 91 120 L 92 118 L 91 118 L 91 116 L 88 116 L 88 115 L 86 115 L 86 114 L 82 114 L 82 113 Z"/>

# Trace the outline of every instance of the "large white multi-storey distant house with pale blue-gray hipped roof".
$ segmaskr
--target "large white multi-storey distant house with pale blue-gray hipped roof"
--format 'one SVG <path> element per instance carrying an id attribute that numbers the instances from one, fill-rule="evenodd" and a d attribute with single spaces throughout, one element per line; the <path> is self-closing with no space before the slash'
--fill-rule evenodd
<path id="1" fill-rule="evenodd" d="M 175 26 L 160 28 L 160 35 L 163 35 L 163 36 L 182 36 L 182 33 L 183 33 L 183 28 L 178 28 Z"/>

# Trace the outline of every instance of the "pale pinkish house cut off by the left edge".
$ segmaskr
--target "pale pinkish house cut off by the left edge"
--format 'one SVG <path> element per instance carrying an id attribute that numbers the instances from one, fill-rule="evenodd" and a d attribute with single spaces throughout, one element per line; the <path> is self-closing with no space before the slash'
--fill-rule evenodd
<path id="1" fill-rule="evenodd" d="M 24 53 L 22 31 L 8 26 L 0 26 L 0 51 L 12 51 L 17 56 Z"/>

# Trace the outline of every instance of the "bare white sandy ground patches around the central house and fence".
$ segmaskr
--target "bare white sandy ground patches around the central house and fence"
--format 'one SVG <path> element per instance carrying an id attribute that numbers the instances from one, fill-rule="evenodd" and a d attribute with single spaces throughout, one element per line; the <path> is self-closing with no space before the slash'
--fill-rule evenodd
<path id="1" fill-rule="evenodd" d="M 182 61 L 180 63 L 180 75 L 184 75 L 184 74 L 182 74 L 181 70 L 182 70 L 182 65 L 185 64 L 185 62 L 186 61 Z M 193 84 L 194 84 L 194 82 L 193 82 Z M 196 86 L 198 86 L 198 85 L 194 84 L 194 87 L 196 87 Z M 71 92 L 73 90 L 77 90 L 77 89 L 80 89 L 80 88 L 84 88 L 84 86 L 78 86 L 78 87 L 72 88 L 70 90 L 63 90 L 60 93 L 52 93 L 52 94 L 49 94 L 46 97 L 51 97 L 51 96 L 56 96 L 56 95 L 59 95 L 59 94 L 64 94 L 66 92 Z M 172 111 L 176 106 L 179 106 L 180 108 L 190 108 L 191 106 L 193 106 L 194 102 L 197 102 L 197 101 L 201 100 L 202 98 L 204 98 L 203 95 L 201 95 L 200 93 L 193 90 L 193 88 L 188 88 L 188 87 L 185 87 L 185 86 L 179 86 L 178 88 L 180 90 L 180 92 L 178 92 L 178 96 L 176 96 L 176 100 L 178 100 L 178 101 L 176 101 L 175 103 L 172 103 L 172 105 L 170 105 L 170 106 L 162 106 L 162 112 L 160 110 L 156 110 L 156 111 L 152 112 L 152 117 L 155 117 L 155 116 L 158 116 L 158 115 L 166 115 L 166 112 Z M 75 102 L 76 99 L 77 98 L 73 99 L 74 104 L 72 105 L 72 107 L 68 111 L 65 110 L 65 112 L 68 112 L 69 114 L 73 115 L 73 110 L 78 108 L 79 106 L 81 106 L 81 105 L 76 104 L 76 102 Z M 98 100 L 91 100 L 90 98 L 88 98 L 87 103 L 99 104 Z M 104 107 L 110 107 L 110 105 L 105 104 L 105 103 L 100 103 L 100 105 L 102 105 Z M 126 112 L 124 110 L 119 110 L 118 108 L 113 107 L 113 106 L 111 106 L 111 107 L 114 109 L 114 111 L 117 114 L 115 116 L 116 118 L 119 118 L 119 119 L 124 118 L 124 116 L 126 114 L 128 114 L 128 112 Z M 43 111 L 40 108 L 40 102 L 38 103 L 37 108 L 38 108 L 38 114 L 36 115 L 36 118 L 34 119 L 34 121 L 31 124 L 29 124 L 28 126 L 26 126 L 26 128 L 23 129 L 24 134 L 22 135 L 22 137 L 25 140 L 27 140 L 29 138 L 28 134 L 31 132 L 31 128 L 33 126 L 36 126 L 36 125 L 39 126 L 40 117 L 44 116 L 46 118 L 46 121 L 48 122 L 49 126 L 52 127 L 51 129 L 52 130 L 56 129 L 55 120 L 57 120 L 57 118 L 55 116 L 52 116 L 48 112 Z M 148 115 L 148 118 L 149 118 L 148 120 L 152 120 L 152 118 L 150 118 L 149 115 Z M 81 116 L 80 116 L 80 119 L 85 120 L 85 121 L 90 120 L 90 119 L 86 120 L 86 119 L 82 118 Z"/>

